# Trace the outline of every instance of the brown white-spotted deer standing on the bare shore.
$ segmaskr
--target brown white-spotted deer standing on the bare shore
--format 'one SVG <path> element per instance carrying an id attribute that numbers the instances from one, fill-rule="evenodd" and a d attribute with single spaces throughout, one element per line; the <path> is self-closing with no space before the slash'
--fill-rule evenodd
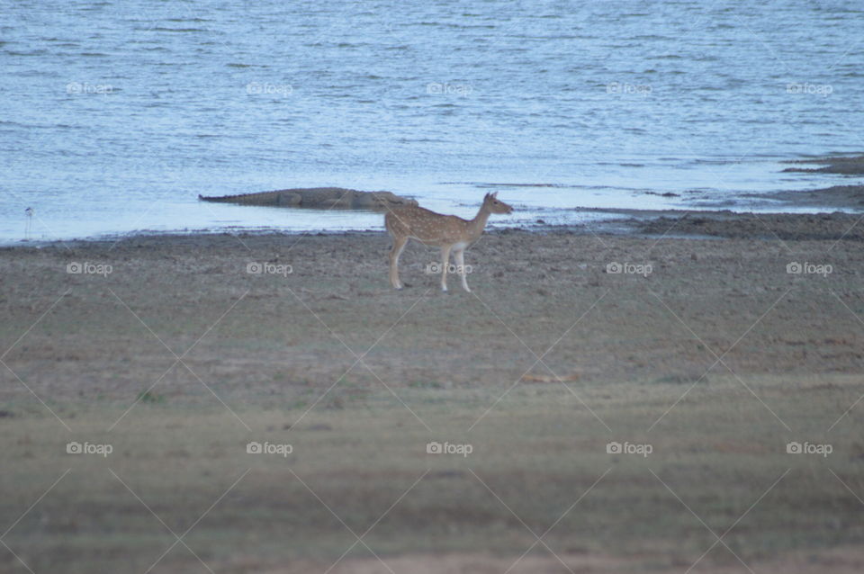
<path id="1" fill-rule="evenodd" d="M 393 238 L 390 250 L 390 283 L 394 289 L 401 289 L 399 280 L 399 256 L 409 239 L 416 239 L 423 245 L 441 247 L 441 291 L 447 291 L 447 267 L 450 252 L 456 260 L 456 271 L 462 278 L 462 288 L 471 292 L 465 279 L 465 249 L 471 247 L 483 233 L 486 221 L 492 213 L 512 213 L 513 208 L 501 202 L 498 193 L 487 193 L 483 198 L 480 211 L 473 220 L 464 220 L 455 215 L 445 215 L 422 207 L 405 206 L 387 211 L 384 227 Z"/>

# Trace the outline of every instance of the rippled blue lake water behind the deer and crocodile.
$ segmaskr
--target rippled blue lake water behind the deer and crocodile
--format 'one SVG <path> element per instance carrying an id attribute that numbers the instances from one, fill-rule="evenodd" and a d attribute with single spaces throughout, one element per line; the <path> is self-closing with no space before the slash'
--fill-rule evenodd
<path id="1" fill-rule="evenodd" d="M 770 209 L 742 194 L 850 181 L 782 160 L 864 150 L 860 0 L 40 0 L 0 31 L 6 243 L 383 227 L 197 201 L 322 185 L 499 191 L 498 225 Z"/>

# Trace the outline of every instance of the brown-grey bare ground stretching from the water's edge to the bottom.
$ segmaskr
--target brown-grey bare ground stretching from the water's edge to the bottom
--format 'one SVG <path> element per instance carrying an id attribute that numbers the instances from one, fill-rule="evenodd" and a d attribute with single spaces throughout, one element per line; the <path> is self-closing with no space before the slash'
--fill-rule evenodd
<path id="1" fill-rule="evenodd" d="M 0 570 L 144 571 L 164 520 L 226 572 L 324 571 L 370 525 L 396 572 L 505 571 L 552 525 L 510 571 L 685 571 L 709 547 L 692 571 L 860 571 L 856 220 L 503 231 L 466 255 L 473 293 L 414 245 L 392 291 L 383 233 L 2 249 Z M 249 462 L 255 439 L 296 450 Z M 388 571 L 352 548 L 330 571 Z M 181 544 L 151 571 L 202 570 Z"/>

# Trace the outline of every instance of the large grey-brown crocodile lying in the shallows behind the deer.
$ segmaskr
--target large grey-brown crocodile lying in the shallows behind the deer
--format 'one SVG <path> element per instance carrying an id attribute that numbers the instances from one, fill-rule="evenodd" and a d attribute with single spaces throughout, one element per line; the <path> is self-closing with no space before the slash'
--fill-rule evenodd
<path id="1" fill-rule="evenodd" d="M 239 203 L 272 207 L 301 207 L 318 210 L 388 211 L 417 205 L 417 201 L 390 192 L 359 192 L 342 187 L 299 187 L 275 192 L 241 193 L 220 197 L 198 196 L 203 202 Z"/>

